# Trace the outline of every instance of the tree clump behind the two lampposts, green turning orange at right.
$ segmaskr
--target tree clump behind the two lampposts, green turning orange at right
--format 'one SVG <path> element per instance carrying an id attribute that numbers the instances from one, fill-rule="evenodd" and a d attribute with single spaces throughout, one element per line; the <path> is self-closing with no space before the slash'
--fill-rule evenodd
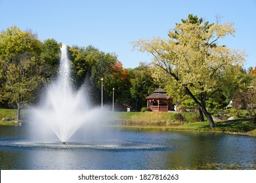
<path id="1" fill-rule="evenodd" d="M 101 99 L 101 78 L 103 78 L 104 103 L 112 102 L 115 88 L 115 102 L 129 103 L 130 76 L 115 54 L 104 53 L 93 46 L 70 48 L 72 78 L 76 88 L 83 84 L 89 88 L 89 95 L 98 105 Z"/>

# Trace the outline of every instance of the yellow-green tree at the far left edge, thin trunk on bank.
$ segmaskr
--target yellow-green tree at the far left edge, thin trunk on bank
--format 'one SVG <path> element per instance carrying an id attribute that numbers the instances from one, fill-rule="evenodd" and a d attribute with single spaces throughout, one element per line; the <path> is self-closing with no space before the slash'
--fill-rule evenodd
<path id="1" fill-rule="evenodd" d="M 32 92 L 41 82 L 39 53 L 41 42 L 31 31 L 9 27 L 0 33 L 0 71 L 3 77 L 3 97 L 16 103 L 17 120 L 20 107 L 32 98 Z"/>

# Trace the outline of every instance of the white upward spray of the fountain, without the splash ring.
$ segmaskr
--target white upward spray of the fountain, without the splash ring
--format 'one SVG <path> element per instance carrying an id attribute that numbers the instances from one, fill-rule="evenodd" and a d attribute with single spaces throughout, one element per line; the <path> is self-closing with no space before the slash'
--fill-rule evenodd
<path id="1" fill-rule="evenodd" d="M 32 121 L 36 122 L 35 133 L 47 136 L 48 127 L 65 143 L 81 125 L 97 118 L 99 109 L 91 109 L 84 88 L 72 90 L 66 45 L 62 44 L 60 50 L 58 78 L 47 88 L 39 107 L 33 109 Z"/>

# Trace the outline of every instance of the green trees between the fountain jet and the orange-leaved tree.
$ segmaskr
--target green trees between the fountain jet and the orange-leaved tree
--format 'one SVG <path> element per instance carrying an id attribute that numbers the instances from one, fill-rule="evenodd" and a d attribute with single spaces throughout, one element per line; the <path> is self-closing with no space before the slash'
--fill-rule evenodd
<path id="1" fill-rule="evenodd" d="M 83 84 L 89 86 L 88 93 L 97 105 L 100 103 L 101 95 L 100 78 L 104 78 L 104 102 L 108 102 L 112 95 L 112 88 L 115 87 L 114 82 L 117 81 L 111 76 L 114 72 L 114 65 L 117 63 L 117 56 L 101 52 L 93 46 L 87 46 L 86 48 L 72 46 L 70 56 L 72 59 L 72 78 L 75 86 L 77 88 Z"/>

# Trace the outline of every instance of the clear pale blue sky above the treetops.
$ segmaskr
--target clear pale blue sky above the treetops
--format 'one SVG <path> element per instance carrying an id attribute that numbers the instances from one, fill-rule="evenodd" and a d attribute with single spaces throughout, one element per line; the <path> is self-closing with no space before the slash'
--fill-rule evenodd
<path id="1" fill-rule="evenodd" d="M 69 46 L 93 45 L 115 53 L 125 68 L 150 62 L 152 56 L 133 50 L 131 42 L 167 38 L 169 29 L 194 14 L 209 23 L 234 22 L 235 36 L 222 42 L 247 54 L 245 69 L 256 67 L 256 0 L 0 0 L 0 31 L 16 25 L 41 41 L 55 39 Z"/>

